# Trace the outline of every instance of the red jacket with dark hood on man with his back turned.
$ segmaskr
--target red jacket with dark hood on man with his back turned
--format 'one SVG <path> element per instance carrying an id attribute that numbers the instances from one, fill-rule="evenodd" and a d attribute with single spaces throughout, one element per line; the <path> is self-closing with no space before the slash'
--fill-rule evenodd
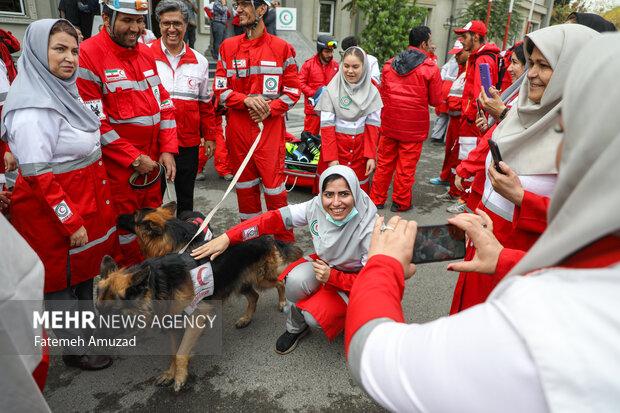
<path id="1" fill-rule="evenodd" d="M 392 139 L 421 142 L 430 126 L 428 106 L 441 103 L 439 68 L 423 51 L 409 46 L 388 60 L 381 74 L 381 133 Z"/>

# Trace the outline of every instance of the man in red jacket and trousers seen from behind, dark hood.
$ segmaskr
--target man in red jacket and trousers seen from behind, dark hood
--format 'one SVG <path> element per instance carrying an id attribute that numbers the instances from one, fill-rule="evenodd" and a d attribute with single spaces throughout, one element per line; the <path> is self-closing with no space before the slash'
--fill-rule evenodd
<path id="1" fill-rule="evenodd" d="M 409 47 L 388 60 L 381 73 L 381 140 L 370 198 L 383 208 L 396 170 L 393 212 L 411 209 L 411 192 L 422 144 L 430 126 L 428 106 L 441 103 L 441 74 L 428 57 L 431 30 L 418 26 L 409 33 Z"/>

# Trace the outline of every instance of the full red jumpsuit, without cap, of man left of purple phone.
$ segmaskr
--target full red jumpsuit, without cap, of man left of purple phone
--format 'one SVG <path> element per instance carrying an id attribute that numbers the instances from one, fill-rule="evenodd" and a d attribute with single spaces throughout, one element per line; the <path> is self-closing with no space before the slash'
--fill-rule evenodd
<path id="1" fill-rule="evenodd" d="M 482 81 L 480 80 L 480 64 L 487 63 L 491 72 L 491 84 L 497 83 L 497 60 L 499 48 L 493 43 L 486 43 L 478 50 L 470 53 L 465 68 L 465 87 L 463 88 L 463 100 L 461 109 L 461 126 L 459 129 L 459 159 L 467 158 L 469 152 L 476 147 L 483 133 L 476 126 L 478 108 L 476 99 L 480 95 Z M 480 200 L 476 194 L 471 194 L 467 199 L 467 205 L 471 208 Z M 467 198 L 469 198 L 467 197 Z"/>

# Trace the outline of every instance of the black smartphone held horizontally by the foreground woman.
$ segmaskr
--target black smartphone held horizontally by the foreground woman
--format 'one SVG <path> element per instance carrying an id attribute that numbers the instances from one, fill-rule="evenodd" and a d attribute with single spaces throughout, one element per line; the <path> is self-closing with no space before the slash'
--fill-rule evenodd
<path id="1" fill-rule="evenodd" d="M 413 247 L 411 262 L 452 261 L 465 257 L 465 231 L 452 225 L 422 225 Z"/>

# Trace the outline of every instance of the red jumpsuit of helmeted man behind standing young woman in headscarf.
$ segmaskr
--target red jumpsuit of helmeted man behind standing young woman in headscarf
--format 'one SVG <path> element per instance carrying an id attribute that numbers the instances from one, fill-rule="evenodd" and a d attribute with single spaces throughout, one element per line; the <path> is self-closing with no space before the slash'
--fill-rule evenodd
<path id="1" fill-rule="evenodd" d="M 332 59 L 329 63 L 323 64 L 318 54 L 306 60 L 299 71 L 299 83 L 304 94 L 304 114 L 306 115 L 304 130 L 313 135 L 319 134 L 321 117 L 316 114 L 314 105 L 309 99 L 320 87 L 327 86 L 336 73 L 338 73 L 338 62 Z"/>

